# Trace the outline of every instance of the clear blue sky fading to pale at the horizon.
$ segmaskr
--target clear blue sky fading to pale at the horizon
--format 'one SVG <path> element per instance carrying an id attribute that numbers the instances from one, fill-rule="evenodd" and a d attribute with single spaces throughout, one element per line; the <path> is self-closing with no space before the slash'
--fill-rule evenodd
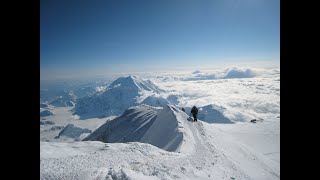
<path id="1" fill-rule="evenodd" d="M 51 75 L 279 61 L 279 54 L 279 0 L 40 1 L 40 65 Z"/>

